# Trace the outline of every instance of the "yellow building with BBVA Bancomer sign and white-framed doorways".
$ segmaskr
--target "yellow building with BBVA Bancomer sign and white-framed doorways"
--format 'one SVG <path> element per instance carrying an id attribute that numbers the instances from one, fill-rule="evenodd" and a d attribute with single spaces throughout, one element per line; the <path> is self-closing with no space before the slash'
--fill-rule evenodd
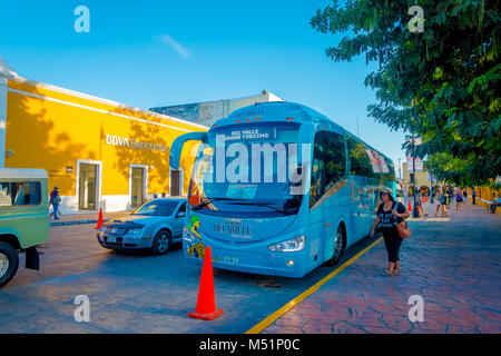
<path id="1" fill-rule="evenodd" d="M 195 144 L 179 170 L 169 167 L 169 147 L 207 129 L 20 78 L 0 58 L 0 167 L 46 169 L 62 214 L 119 211 L 154 194 L 186 194 Z"/>

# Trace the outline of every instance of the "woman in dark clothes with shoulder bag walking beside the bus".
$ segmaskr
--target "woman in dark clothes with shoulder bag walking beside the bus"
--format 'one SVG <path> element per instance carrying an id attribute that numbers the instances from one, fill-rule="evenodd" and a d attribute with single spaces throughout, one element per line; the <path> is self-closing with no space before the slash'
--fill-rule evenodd
<path id="1" fill-rule="evenodd" d="M 383 202 L 377 208 L 377 217 L 372 227 L 371 237 L 374 236 L 375 228 L 381 224 L 384 246 L 387 250 L 387 269 L 385 273 L 394 275 L 400 273 L 399 251 L 403 240 L 399 230 L 396 230 L 396 224 L 402 222 L 403 218 L 409 217 L 410 214 L 402 202 L 395 201 L 390 189 L 381 190 L 381 199 Z"/>

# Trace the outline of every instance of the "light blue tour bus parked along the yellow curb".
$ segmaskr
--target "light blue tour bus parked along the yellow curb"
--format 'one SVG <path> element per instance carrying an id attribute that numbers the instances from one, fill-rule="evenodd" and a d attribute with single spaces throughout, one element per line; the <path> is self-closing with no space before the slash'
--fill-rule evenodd
<path id="1" fill-rule="evenodd" d="M 184 227 L 185 257 L 216 268 L 302 277 L 367 236 L 393 162 L 334 121 L 293 102 L 245 107 L 207 132 L 178 137 L 193 156 Z M 288 174 L 287 174 L 288 171 Z"/>

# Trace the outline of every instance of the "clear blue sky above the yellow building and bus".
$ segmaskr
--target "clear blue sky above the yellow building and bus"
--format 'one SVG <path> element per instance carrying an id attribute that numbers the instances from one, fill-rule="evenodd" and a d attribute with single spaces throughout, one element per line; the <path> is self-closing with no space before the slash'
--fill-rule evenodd
<path id="1" fill-rule="evenodd" d="M 391 157 L 403 132 L 367 117 L 365 57 L 325 56 L 340 37 L 310 19 L 327 0 L 9 1 L 0 56 L 19 76 L 139 108 L 236 98 L 268 89 L 328 116 Z M 90 32 L 77 33 L 78 6 Z M 375 66 L 375 65 L 372 65 Z"/>

